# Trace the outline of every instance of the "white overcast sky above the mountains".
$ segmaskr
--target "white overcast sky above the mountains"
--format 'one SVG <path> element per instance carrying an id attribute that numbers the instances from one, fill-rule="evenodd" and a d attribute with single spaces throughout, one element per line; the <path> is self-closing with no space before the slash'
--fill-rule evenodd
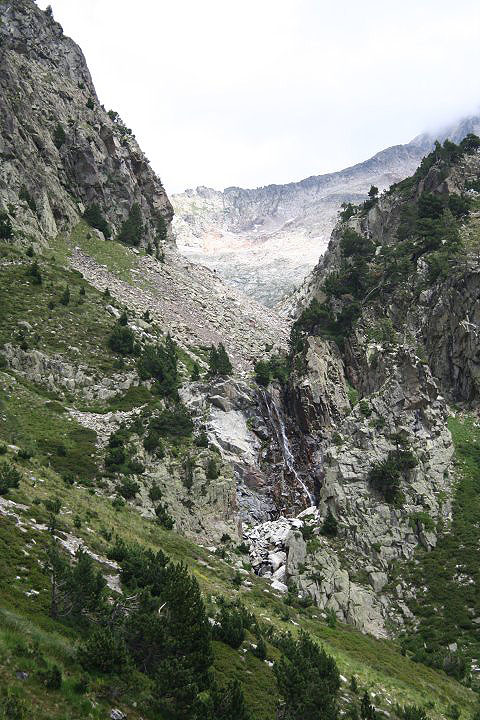
<path id="1" fill-rule="evenodd" d="M 169 192 L 339 170 L 480 107 L 479 0 L 51 5 Z"/>

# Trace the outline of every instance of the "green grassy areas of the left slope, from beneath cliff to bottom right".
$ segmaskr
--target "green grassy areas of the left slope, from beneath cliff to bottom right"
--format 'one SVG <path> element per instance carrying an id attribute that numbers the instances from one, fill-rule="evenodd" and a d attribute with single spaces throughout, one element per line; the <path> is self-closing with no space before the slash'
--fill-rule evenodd
<path id="1" fill-rule="evenodd" d="M 81 237 L 85 237 L 85 228 Z M 40 349 L 47 353 L 61 352 L 69 357 L 69 346 L 78 345 L 82 349 L 82 363 L 99 372 L 109 373 L 112 372 L 112 357 L 105 352 L 104 337 L 112 319 L 105 311 L 106 301 L 101 295 L 87 285 L 84 304 L 66 308 L 57 305 L 52 315 L 58 314 L 49 318 L 48 299 L 52 295 L 58 296 L 67 282 L 71 289 L 74 288 L 72 296 L 76 297 L 77 286 L 84 283 L 78 275 L 58 264 L 59 259 L 66 259 L 68 247 L 73 242 L 80 244 L 75 236 L 68 243 L 58 241 L 56 260 L 47 255 L 40 259 L 42 275 L 48 280 L 40 287 L 31 286 L 24 280 L 25 268 L 31 261 L 8 251 L 8 257 L 21 261 L 22 265 L 0 268 L 0 340 L 9 340 L 18 331 L 18 321 L 28 319 L 40 336 Z M 95 244 L 97 242 L 94 240 Z M 92 252 L 99 253 L 104 247 L 93 248 Z M 109 257 L 111 248 L 114 248 L 114 257 L 118 256 L 118 268 L 113 269 L 119 275 L 127 271 L 131 253 L 112 243 L 108 244 L 108 248 Z M 61 337 L 57 331 L 59 327 L 62 328 Z M 73 361 L 73 356 L 71 359 Z M 342 674 L 347 678 L 355 674 L 360 687 L 368 687 L 377 693 L 377 705 L 388 709 L 388 701 L 429 703 L 430 714 L 435 718 L 444 716 L 451 704 L 457 704 L 463 715 L 468 716 L 473 706 L 473 694 L 469 690 L 443 673 L 412 663 L 402 656 L 394 643 L 376 641 L 347 626 L 330 628 L 317 609 L 287 607 L 282 598 L 272 593 L 266 582 L 255 576 L 249 577 L 252 582 L 250 588 L 238 591 L 232 583 L 232 567 L 208 550 L 141 518 L 131 505 L 115 510 L 108 498 L 93 495 L 92 489 L 65 484 L 55 472 L 64 472 L 63 463 L 82 465 L 86 468 L 82 474 L 88 480 L 94 474 L 93 469 L 88 470 L 90 462 L 95 461 L 95 457 L 90 457 L 92 454 L 95 456 L 94 437 L 80 432 L 80 427 L 73 421 L 65 422 L 62 407 L 68 398 L 55 399 L 44 389 L 12 373 L 0 372 L 0 388 L 0 443 L 14 440 L 20 445 L 35 447 L 32 460 L 17 462 L 24 479 L 19 490 L 9 496 L 28 507 L 25 511 L 15 509 L 22 518 L 23 529 L 16 527 L 12 519 L 0 515 L 0 607 L 3 620 L 0 622 L 0 678 L 5 684 L 19 686 L 29 696 L 36 706 L 36 718 L 104 718 L 109 707 L 122 706 L 122 702 L 128 709 L 129 718 L 138 717 L 129 702 L 128 692 L 122 701 L 101 701 L 96 708 L 92 706 L 91 700 L 98 698 L 96 690 L 102 684 L 101 679 L 90 695 L 81 696 L 73 692 L 74 681 L 81 672 L 74 656 L 78 636 L 72 629 L 54 623 L 48 617 L 48 578 L 42 570 L 47 533 L 31 526 L 31 518 L 38 522 L 46 520 L 41 501 L 53 496 L 62 501 L 64 529 L 83 538 L 92 550 L 105 554 L 111 542 L 107 538 L 115 534 L 125 540 L 161 547 L 172 558 L 182 559 L 188 564 L 197 576 L 209 606 L 217 595 L 234 597 L 240 594 L 263 623 L 293 632 L 299 627 L 305 628 L 335 656 Z M 134 396 L 127 404 L 131 406 L 146 399 Z M 48 445 L 59 441 L 67 449 L 66 456 L 55 454 L 54 448 Z M 89 460 L 85 463 L 87 457 Z M 81 519 L 80 529 L 73 524 L 76 515 Z M 25 593 L 32 589 L 39 594 L 27 596 Z M 244 648 L 248 648 L 248 642 Z M 272 659 L 276 652 L 274 648 L 269 648 Z M 61 691 L 47 691 L 36 678 L 33 671 L 41 666 L 42 659 L 47 663 L 57 662 L 63 668 L 66 680 Z M 28 681 L 18 680 L 15 675 L 17 670 L 31 672 Z M 241 680 L 256 720 L 273 720 L 277 691 L 273 672 L 267 663 L 260 662 L 248 651 L 244 653 L 243 649 L 235 651 L 222 643 L 215 643 L 215 670 L 221 677 L 236 676 Z"/>

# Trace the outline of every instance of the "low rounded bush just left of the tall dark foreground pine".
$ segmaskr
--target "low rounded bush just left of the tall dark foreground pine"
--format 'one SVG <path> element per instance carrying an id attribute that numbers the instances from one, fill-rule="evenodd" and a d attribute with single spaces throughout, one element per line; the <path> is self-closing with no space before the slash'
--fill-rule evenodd
<path id="1" fill-rule="evenodd" d="M 124 640 L 109 628 L 96 628 L 86 642 L 78 648 L 80 665 L 91 672 L 121 672 L 128 661 Z"/>

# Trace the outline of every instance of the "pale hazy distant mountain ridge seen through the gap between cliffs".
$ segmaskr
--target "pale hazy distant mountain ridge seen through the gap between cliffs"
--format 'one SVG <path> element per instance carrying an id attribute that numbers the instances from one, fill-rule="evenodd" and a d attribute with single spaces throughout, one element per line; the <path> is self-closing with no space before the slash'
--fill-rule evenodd
<path id="1" fill-rule="evenodd" d="M 172 196 L 177 245 L 190 260 L 272 307 L 323 254 L 342 203 L 361 202 L 371 185 L 384 190 L 411 175 L 437 137 L 459 142 L 479 131 L 474 116 L 339 172 L 253 190 L 186 190 Z"/>

